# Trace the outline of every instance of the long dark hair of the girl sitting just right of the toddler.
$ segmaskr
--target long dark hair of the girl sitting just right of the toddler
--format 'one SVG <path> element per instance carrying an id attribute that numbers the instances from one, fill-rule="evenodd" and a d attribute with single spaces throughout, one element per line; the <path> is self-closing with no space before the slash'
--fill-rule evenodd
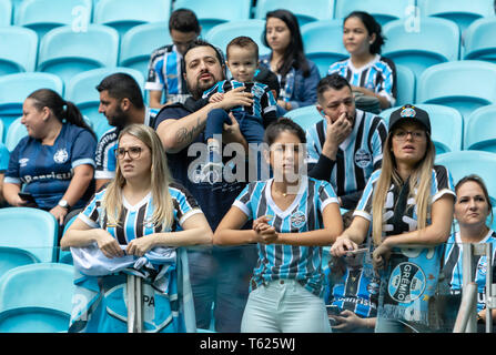
<path id="1" fill-rule="evenodd" d="M 286 48 L 286 52 L 284 53 L 284 62 L 281 64 L 280 68 L 277 68 L 279 73 L 281 74 L 281 77 L 285 77 L 291 68 L 294 67 L 294 69 L 301 69 L 303 72 L 303 77 L 307 78 L 310 75 L 310 67 L 303 50 L 303 39 L 300 32 L 300 26 L 296 17 L 287 10 L 280 9 L 269 11 L 265 16 L 265 20 L 269 20 L 270 18 L 276 18 L 284 21 L 291 32 L 291 41 Z M 262 42 L 266 47 L 269 47 L 266 37 L 267 28 L 265 22 L 265 29 L 262 34 Z"/>

